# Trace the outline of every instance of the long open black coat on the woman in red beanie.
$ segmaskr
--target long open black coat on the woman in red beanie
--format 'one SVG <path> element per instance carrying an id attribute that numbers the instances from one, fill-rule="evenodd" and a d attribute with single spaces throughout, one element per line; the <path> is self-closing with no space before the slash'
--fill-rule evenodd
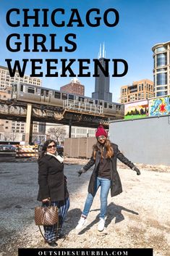
<path id="1" fill-rule="evenodd" d="M 123 162 L 125 165 L 129 166 L 129 168 L 133 168 L 135 165 L 130 162 L 127 157 L 124 157 L 124 154 L 122 154 L 118 146 L 114 143 L 111 143 L 111 146 L 114 149 L 114 156 L 111 157 L 110 165 L 111 165 L 111 197 L 116 196 L 117 194 L 122 193 L 122 183 L 119 177 L 119 173 L 117 172 L 117 158 Z M 100 152 L 96 152 L 96 160 L 93 159 L 93 157 L 90 158 L 90 161 L 83 167 L 84 170 L 88 170 L 95 164 L 95 168 L 93 170 L 93 173 L 90 177 L 90 182 L 88 185 L 88 192 L 94 196 L 94 186 L 95 186 L 95 178 L 97 176 L 96 170 L 98 169 L 98 165 L 100 164 L 101 160 L 101 154 Z"/>

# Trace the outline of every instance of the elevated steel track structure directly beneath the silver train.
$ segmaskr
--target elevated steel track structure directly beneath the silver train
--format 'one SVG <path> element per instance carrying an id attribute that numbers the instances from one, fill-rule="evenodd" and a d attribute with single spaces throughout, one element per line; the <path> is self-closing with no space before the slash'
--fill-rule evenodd
<path id="1" fill-rule="evenodd" d="M 27 104 L 29 102 L 20 101 L 0 101 L 0 119 L 26 121 Z M 44 123 L 60 123 L 63 125 L 75 125 L 82 127 L 96 128 L 98 123 L 102 123 L 106 128 L 109 127 L 110 120 L 122 119 L 119 114 L 106 116 L 99 115 L 85 110 L 73 110 L 65 107 L 54 107 L 46 104 L 32 104 L 31 121 Z"/>

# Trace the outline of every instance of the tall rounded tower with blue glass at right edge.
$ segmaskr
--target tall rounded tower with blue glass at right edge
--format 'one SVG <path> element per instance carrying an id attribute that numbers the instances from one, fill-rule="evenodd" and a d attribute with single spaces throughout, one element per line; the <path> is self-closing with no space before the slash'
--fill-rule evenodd
<path id="1" fill-rule="evenodd" d="M 154 45 L 152 51 L 155 96 L 170 94 L 170 41 Z"/>

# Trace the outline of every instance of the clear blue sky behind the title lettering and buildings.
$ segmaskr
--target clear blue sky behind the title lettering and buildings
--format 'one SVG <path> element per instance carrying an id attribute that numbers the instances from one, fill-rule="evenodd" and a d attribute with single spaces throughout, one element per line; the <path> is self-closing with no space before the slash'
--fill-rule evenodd
<path id="1" fill-rule="evenodd" d="M 49 14 L 56 8 L 65 10 L 64 21 L 68 22 L 71 15 L 70 9 L 76 8 L 80 13 L 82 22 L 85 24 L 83 28 L 77 28 L 76 23 L 73 28 L 56 28 L 51 24 L 49 19 L 48 28 L 33 28 L 30 22 L 29 28 L 11 28 L 6 22 L 6 13 L 11 8 L 48 8 Z M 106 9 L 114 8 L 119 12 L 119 23 L 114 28 L 109 28 L 101 20 L 98 28 L 91 28 L 85 22 L 85 14 L 88 9 L 98 8 L 101 17 Z M 110 91 L 113 94 L 113 101 L 116 102 L 120 96 L 120 87 L 131 84 L 135 80 L 148 78 L 153 80 L 153 52 L 152 46 L 160 42 L 170 40 L 170 19 L 169 19 L 170 1 L 169 0 L 1 0 L 0 3 L 0 65 L 7 66 L 5 59 L 23 59 L 23 58 L 73 58 L 91 59 L 90 72 L 93 74 L 92 59 L 98 57 L 99 46 L 105 43 L 106 58 L 109 59 L 125 59 L 128 63 L 129 70 L 127 75 L 122 78 L 110 79 Z M 17 17 L 17 16 L 16 16 Z M 22 23 L 23 15 L 19 15 Z M 50 15 L 49 15 L 50 17 Z M 13 17 L 14 18 L 14 15 Z M 41 17 L 40 17 L 41 20 Z M 64 36 L 67 33 L 75 33 L 77 49 L 72 53 L 62 51 L 60 53 L 33 53 L 23 52 L 24 44 L 21 51 L 12 53 L 7 50 L 6 38 L 11 33 L 20 33 L 22 44 L 24 33 L 43 33 L 46 35 L 46 48 L 50 48 L 49 34 L 56 33 L 56 46 L 67 46 L 64 42 Z M 30 48 L 32 40 L 30 40 Z M 110 73 L 113 66 L 110 67 Z M 61 70 L 60 63 L 57 65 L 58 71 Z M 75 70 L 77 67 L 75 67 Z M 46 73 L 46 64 L 42 65 L 42 71 Z M 30 75 L 30 64 L 27 65 L 25 74 Z M 48 88 L 59 89 L 71 78 L 45 78 L 43 77 L 43 86 Z M 85 85 L 85 95 L 91 96 L 95 89 L 95 78 L 79 78 L 80 82 Z"/>

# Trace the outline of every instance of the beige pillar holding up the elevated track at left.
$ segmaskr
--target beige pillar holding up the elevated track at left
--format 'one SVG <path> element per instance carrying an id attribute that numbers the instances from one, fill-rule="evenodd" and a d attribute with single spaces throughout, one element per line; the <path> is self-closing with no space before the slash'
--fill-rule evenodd
<path id="1" fill-rule="evenodd" d="M 33 132 L 33 123 L 31 121 L 32 105 L 27 104 L 27 117 L 26 117 L 26 128 L 25 128 L 25 145 L 30 144 Z"/>

